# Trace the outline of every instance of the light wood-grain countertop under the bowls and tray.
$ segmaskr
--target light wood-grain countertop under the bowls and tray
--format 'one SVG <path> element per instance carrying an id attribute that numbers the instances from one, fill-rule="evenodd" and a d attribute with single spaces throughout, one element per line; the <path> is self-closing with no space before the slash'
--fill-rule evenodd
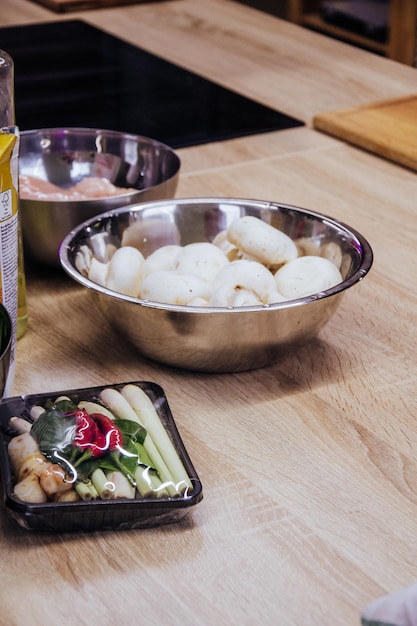
<path id="1" fill-rule="evenodd" d="M 76 16 L 306 122 L 181 150 L 178 196 L 322 211 L 367 237 L 375 262 L 312 346 L 235 375 L 143 360 L 62 273 L 28 268 L 16 394 L 159 383 L 205 497 L 145 531 L 51 536 L 1 516 L 1 621 L 357 625 L 417 577 L 417 177 L 311 120 L 413 93 L 416 70 L 228 0 L 65 17 L 3 0 L 0 25 Z"/>

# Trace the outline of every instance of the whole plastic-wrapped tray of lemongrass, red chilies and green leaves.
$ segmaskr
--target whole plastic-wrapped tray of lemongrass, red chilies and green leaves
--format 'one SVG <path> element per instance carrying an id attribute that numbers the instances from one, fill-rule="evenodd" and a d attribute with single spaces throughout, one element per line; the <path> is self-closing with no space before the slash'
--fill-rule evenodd
<path id="1" fill-rule="evenodd" d="M 155 383 L 7 398 L 0 427 L 4 505 L 24 528 L 146 528 L 179 521 L 203 497 Z"/>

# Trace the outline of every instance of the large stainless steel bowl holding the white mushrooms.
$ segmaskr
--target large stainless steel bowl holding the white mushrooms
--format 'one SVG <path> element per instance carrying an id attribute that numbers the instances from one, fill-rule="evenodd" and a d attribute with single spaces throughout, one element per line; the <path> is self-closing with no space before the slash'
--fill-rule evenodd
<path id="1" fill-rule="evenodd" d="M 340 260 L 343 282 L 313 296 L 268 306 L 204 308 L 148 302 L 123 296 L 91 282 L 75 265 L 81 246 L 100 260 L 120 246 L 122 236 L 139 229 L 147 256 L 163 244 L 211 241 L 238 217 L 253 215 L 289 235 L 302 250 Z M 111 246 L 108 247 L 108 244 Z M 368 273 L 373 260 L 368 242 L 337 220 L 306 209 L 256 200 L 197 198 L 148 202 L 89 220 L 64 239 L 64 270 L 88 288 L 117 332 L 143 355 L 197 371 L 237 372 L 276 362 L 292 344 L 315 336 L 338 307 L 345 291 Z"/>

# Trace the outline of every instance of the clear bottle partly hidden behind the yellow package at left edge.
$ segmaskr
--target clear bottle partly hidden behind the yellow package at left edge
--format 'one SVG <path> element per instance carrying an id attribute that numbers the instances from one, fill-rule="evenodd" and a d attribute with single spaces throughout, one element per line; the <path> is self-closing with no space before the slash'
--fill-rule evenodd
<path id="1" fill-rule="evenodd" d="M 15 126 L 14 63 L 10 54 L 0 50 L 0 127 Z M 27 327 L 26 279 L 23 258 L 22 232 L 18 229 L 18 303 L 16 338 L 24 335 Z"/>

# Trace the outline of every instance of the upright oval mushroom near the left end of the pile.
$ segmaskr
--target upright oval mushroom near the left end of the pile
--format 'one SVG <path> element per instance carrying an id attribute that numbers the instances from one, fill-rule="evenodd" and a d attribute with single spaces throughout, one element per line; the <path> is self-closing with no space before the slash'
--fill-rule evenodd
<path id="1" fill-rule="evenodd" d="M 119 248 L 110 259 L 106 287 L 137 298 L 143 280 L 144 263 L 143 254 L 136 248 Z"/>

